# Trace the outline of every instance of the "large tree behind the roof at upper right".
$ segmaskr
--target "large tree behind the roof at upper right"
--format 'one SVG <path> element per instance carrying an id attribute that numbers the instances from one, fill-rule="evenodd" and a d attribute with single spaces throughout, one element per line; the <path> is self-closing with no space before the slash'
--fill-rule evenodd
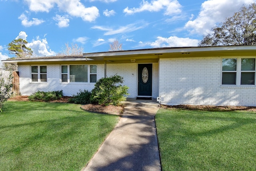
<path id="1" fill-rule="evenodd" d="M 226 18 L 212 33 L 204 36 L 199 46 L 229 46 L 256 44 L 256 4 L 242 6 L 233 16 Z"/>

